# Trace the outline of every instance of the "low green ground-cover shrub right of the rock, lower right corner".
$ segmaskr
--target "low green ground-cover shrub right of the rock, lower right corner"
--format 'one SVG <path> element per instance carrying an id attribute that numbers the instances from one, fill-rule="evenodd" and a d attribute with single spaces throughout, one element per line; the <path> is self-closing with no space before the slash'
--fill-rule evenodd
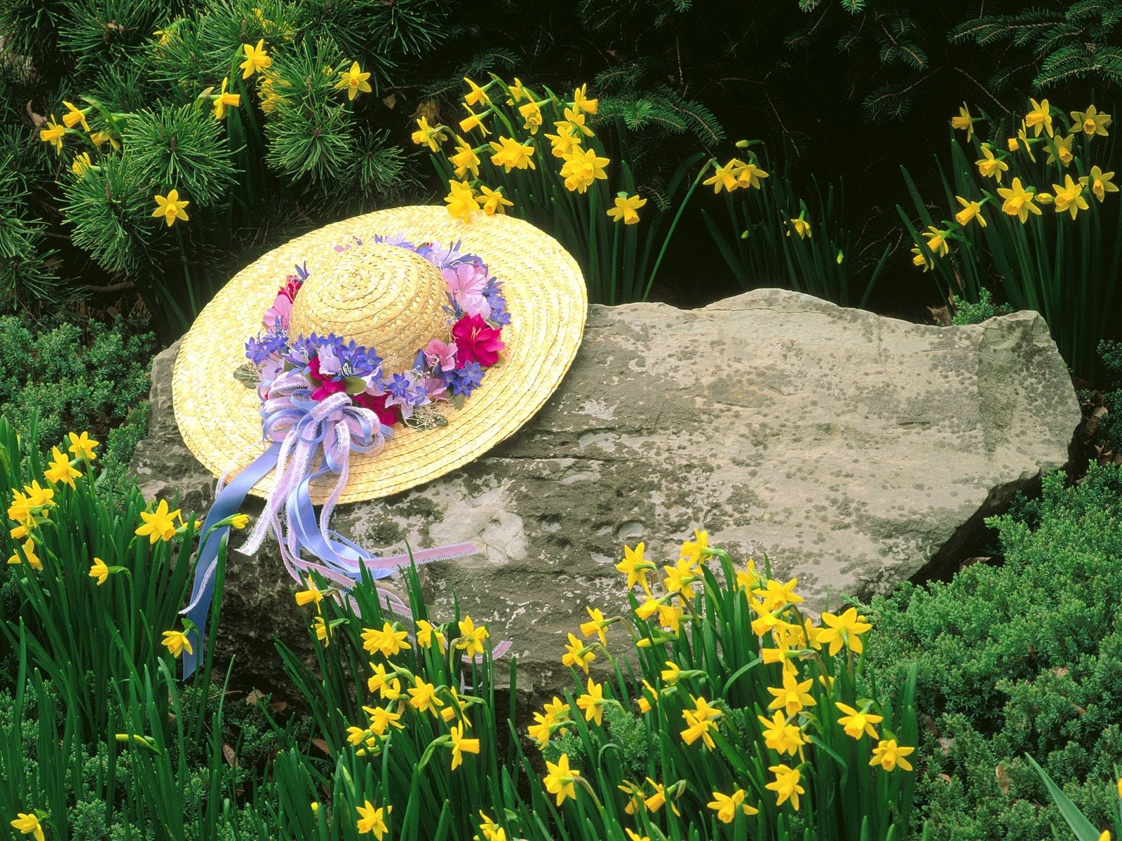
<path id="1" fill-rule="evenodd" d="M 1004 562 L 905 584 L 871 607 L 873 664 L 918 674 L 919 814 L 936 839 L 1049 838 L 1063 822 L 1031 754 L 1096 825 L 1122 763 L 1122 471 L 1043 479 L 991 518 Z"/>

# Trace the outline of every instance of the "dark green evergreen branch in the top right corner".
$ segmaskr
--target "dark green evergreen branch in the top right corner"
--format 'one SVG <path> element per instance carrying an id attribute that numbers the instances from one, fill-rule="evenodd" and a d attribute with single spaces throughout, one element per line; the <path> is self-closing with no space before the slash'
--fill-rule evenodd
<path id="1" fill-rule="evenodd" d="M 974 43 L 997 50 L 1004 43 L 1019 52 L 1009 54 L 987 86 L 1002 91 L 1031 75 L 1036 90 L 1073 80 L 1122 84 L 1122 0 L 1075 0 L 1052 8 L 1028 6 L 1005 15 L 982 15 L 965 20 L 948 35 L 951 43 Z M 1030 55 L 1028 62 L 1022 61 Z M 1009 59 L 1006 59 L 1009 61 Z"/>

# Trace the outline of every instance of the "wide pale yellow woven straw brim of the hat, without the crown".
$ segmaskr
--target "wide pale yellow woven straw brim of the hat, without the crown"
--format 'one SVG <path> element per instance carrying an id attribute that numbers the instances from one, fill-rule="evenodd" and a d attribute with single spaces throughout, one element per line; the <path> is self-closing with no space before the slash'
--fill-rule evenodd
<path id="1" fill-rule="evenodd" d="M 248 465 L 265 450 L 259 400 L 233 377 L 246 340 L 296 264 L 311 272 L 351 235 L 405 234 L 479 255 L 503 281 L 511 324 L 503 329 L 502 364 L 490 368 L 463 408 L 450 406 L 447 426 L 417 431 L 398 424 L 378 455 L 351 456 L 342 502 L 398 493 L 477 459 L 522 427 L 549 399 L 580 345 L 588 297 L 580 268 L 552 237 L 528 222 L 473 214 L 452 219 L 440 206 L 395 207 L 335 222 L 297 237 L 239 271 L 199 314 L 183 339 L 172 377 L 175 419 L 187 449 L 215 475 Z M 376 290 L 371 289 L 371 293 Z M 331 477 L 333 479 L 333 477 Z M 269 473 L 251 491 L 267 497 Z M 313 500 L 333 482 L 318 480 Z"/>

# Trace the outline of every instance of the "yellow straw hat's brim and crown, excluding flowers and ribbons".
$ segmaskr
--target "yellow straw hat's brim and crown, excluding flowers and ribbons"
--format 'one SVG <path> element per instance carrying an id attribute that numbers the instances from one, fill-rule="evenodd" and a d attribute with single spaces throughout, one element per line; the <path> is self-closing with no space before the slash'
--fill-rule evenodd
<path id="1" fill-rule="evenodd" d="M 525 424 L 549 399 L 580 345 L 588 299 L 577 262 L 528 222 L 477 214 L 452 219 L 440 206 L 395 207 L 335 222 L 297 237 L 239 271 L 199 314 L 183 339 L 172 377 L 175 419 L 192 453 L 215 475 L 236 473 L 265 451 L 260 400 L 234 377 L 246 340 L 297 264 L 311 277 L 293 307 L 289 335 L 334 333 L 377 350 L 387 372 L 411 367 L 417 350 L 447 333 L 443 278 L 427 261 L 377 234 L 450 244 L 478 255 L 503 281 L 511 323 L 502 364 L 457 409 L 430 429 L 398 424 L 377 455 L 356 454 L 340 502 L 377 499 L 423 484 L 477 459 Z M 337 251 L 335 246 L 362 244 Z M 321 502 L 333 478 L 316 480 Z M 251 493 L 267 497 L 266 475 Z"/>

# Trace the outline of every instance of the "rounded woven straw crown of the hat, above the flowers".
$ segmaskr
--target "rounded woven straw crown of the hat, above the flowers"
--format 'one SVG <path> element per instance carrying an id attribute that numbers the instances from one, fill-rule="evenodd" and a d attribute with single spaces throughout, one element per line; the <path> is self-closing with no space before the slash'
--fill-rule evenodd
<path id="1" fill-rule="evenodd" d="M 416 352 L 447 338 L 448 285 L 431 262 L 408 249 L 355 244 L 332 255 L 293 302 L 288 334 L 334 333 L 378 352 L 383 371 L 413 367 Z"/>

